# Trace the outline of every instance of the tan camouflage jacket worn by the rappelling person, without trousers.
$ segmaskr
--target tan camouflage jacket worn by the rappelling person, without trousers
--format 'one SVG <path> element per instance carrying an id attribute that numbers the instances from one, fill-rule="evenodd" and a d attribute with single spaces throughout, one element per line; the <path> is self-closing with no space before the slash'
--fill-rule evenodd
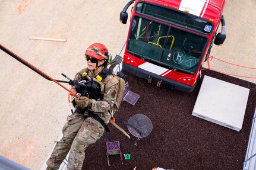
<path id="1" fill-rule="evenodd" d="M 82 69 L 80 72 L 78 72 L 75 75 L 75 80 L 80 81 L 81 78 L 84 77 L 83 73 L 86 73 L 87 68 Z M 94 77 L 94 75 L 89 71 L 88 76 L 91 78 Z M 97 75 L 96 75 L 97 76 Z M 113 107 L 114 102 L 116 101 L 117 97 L 117 87 L 116 87 L 116 78 L 113 75 L 108 75 L 106 78 L 102 79 L 101 82 L 105 84 L 104 90 L 103 90 L 103 99 L 102 100 L 91 100 L 92 103 L 87 107 L 87 110 L 93 111 L 94 114 L 97 114 L 102 120 L 105 121 L 106 124 L 109 123 L 111 114 L 109 113 L 109 110 Z M 75 105 L 74 107 L 78 107 Z M 85 116 L 88 114 L 84 113 Z"/>

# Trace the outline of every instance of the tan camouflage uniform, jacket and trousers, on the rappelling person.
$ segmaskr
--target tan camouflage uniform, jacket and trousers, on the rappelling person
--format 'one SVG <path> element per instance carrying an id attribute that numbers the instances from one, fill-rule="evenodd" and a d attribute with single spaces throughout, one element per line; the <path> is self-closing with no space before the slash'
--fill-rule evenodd
<path id="1" fill-rule="evenodd" d="M 86 69 L 81 70 L 75 75 L 75 80 L 79 80 L 82 73 Z M 89 72 L 89 76 L 93 76 Z M 112 83 L 115 78 L 112 75 L 108 75 L 102 80 L 104 84 Z M 97 114 L 106 124 L 109 123 L 111 115 L 109 113 L 114 102 L 116 101 L 117 88 L 115 85 L 105 89 L 102 101 L 92 100 L 88 110 L 93 111 Z M 75 106 L 78 107 L 77 105 Z M 50 158 L 46 162 L 49 168 L 58 169 L 62 161 L 68 157 L 68 168 L 67 169 L 81 169 L 84 162 L 85 153 L 87 146 L 95 143 L 102 137 L 104 133 L 104 127 L 97 120 L 92 117 L 85 118 L 88 113 L 79 114 L 75 113 L 67 117 L 67 123 L 63 127 L 63 137 L 61 141 L 56 143 L 56 146 L 50 155 Z"/>

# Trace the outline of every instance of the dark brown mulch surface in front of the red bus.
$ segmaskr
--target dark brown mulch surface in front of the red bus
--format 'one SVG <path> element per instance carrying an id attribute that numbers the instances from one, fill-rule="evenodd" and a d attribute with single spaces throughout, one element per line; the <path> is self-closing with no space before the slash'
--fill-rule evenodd
<path id="1" fill-rule="evenodd" d="M 129 169 L 148 170 L 153 167 L 165 169 L 242 169 L 256 106 L 256 86 L 251 82 L 204 70 L 208 75 L 232 84 L 249 88 L 244 123 L 241 131 L 227 129 L 209 121 L 192 116 L 203 76 L 191 93 L 175 91 L 137 78 L 127 72 L 130 90 L 140 99 L 132 107 L 122 102 L 116 117 L 128 121 L 134 114 L 144 114 L 153 124 L 151 133 L 140 140 L 128 139 L 121 131 L 109 124 L 110 133 L 86 149 L 83 169 Z M 127 126 L 118 124 L 128 132 Z M 105 139 L 120 139 L 123 153 L 131 154 L 121 165 L 119 155 L 109 156 L 108 166 Z M 137 140 L 138 145 L 134 142 Z"/>

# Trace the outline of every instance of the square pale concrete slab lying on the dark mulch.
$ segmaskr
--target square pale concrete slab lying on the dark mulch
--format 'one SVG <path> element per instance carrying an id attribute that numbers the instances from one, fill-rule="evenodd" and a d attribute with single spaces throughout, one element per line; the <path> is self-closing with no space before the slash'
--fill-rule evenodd
<path id="1" fill-rule="evenodd" d="M 240 131 L 249 89 L 204 76 L 192 115 Z"/>

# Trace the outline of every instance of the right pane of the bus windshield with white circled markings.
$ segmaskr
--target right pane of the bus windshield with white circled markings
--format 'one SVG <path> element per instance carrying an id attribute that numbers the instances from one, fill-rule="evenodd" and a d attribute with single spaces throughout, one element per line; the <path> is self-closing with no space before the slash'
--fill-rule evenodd
<path id="1" fill-rule="evenodd" d="M 207 44 L 207 38 L 171 27 L 162 63 L 194 73 Z"/>

